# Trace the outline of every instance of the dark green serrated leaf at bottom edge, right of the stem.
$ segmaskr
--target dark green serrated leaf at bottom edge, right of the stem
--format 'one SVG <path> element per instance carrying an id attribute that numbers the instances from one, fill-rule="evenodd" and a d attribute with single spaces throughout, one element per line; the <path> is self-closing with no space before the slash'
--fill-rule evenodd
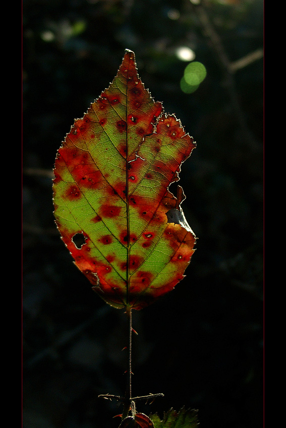
<path id="1" fill-rule="evenodd" d="M 170 409 L 161 420 L 157 413 L 150 415 L 154 428 L 198 428 L 198 410 L 185 409 L 179 412 Z"/>

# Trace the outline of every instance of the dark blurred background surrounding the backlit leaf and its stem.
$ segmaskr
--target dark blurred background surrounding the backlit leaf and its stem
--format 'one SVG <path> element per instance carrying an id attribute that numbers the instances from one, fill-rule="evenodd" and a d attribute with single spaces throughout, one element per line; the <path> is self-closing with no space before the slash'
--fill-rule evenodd
<path id="1" fill-rule="evenodd" d="M 127 326 L 73 265 L 53 221 L 56 151 L 115 77 L 126 48 L 165 112 L 197 148 L 183 164 L 198 237 L 186 278 L 135 312 L 133 394 L 146 414 L 199 410 L 201 428 L 263 423 L 263 1 L 23 1 L 24 428 L 117 428 Z M 207 70 L 180 89 L 188 62 Z M 173 190 L 173 187 L 171 188 Z M 176 189 L 176 187 L 175 187 Z M 176 190 L 175 190 L 176 191 Z"/>

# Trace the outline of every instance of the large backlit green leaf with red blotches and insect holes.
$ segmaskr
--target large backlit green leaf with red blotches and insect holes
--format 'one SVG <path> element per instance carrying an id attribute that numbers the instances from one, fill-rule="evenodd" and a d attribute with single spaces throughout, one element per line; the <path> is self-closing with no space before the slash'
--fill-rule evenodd
<path id="1" fill-rule="evenodd" d="M 53 202 L 61 237 L 96 291 L 116 308 L 141 309 L 184 277 L 195 235 L 168 190 L 195 147 L 164 114 L 126 50 L 109 88 L 76 119 L 55 160 Z"/>

